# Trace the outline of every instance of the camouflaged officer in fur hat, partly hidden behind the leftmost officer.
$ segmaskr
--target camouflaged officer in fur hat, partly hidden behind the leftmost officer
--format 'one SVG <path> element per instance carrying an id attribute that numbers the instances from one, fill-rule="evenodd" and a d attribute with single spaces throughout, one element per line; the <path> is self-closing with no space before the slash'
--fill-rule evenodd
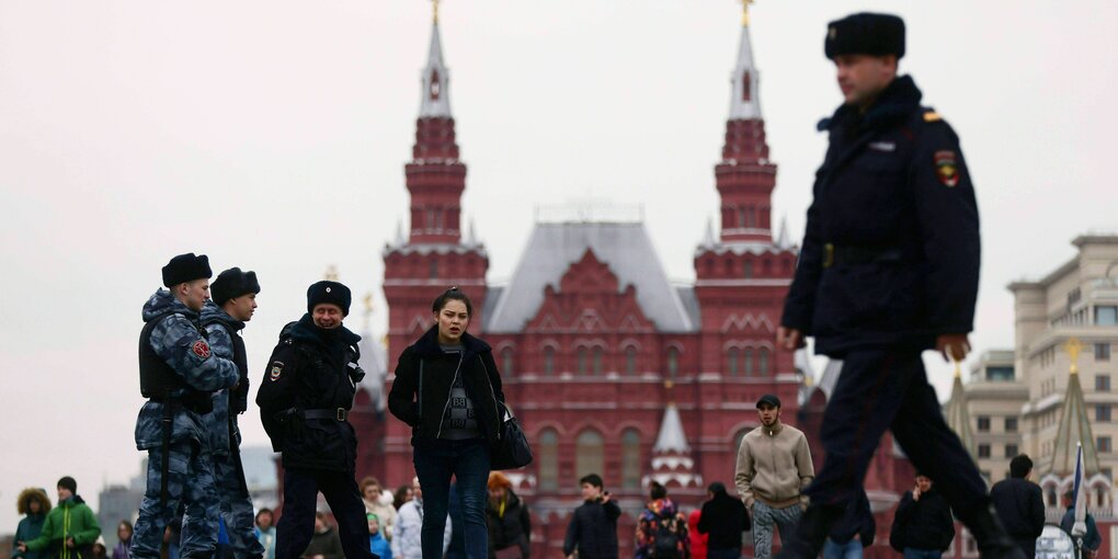
<path id="1" fill-rule="evenodd" d="M 248 407 L 248 360 L 240 331 L 253 319 L 260 284 L 255 272 L 229 268 L 218 274 L 210 292 L 214 299 L 202 309 L 202 326 L 214 354 L 231 360 L 240 375 L 236 390 L 214 392 L 214 411 L 206 415 L 221 519 L 234 557 L 262 557 L 264 546 L 253 533 L 253 501 L 240 463 L 240 430 L 237 428 L 237 415 Z"/>

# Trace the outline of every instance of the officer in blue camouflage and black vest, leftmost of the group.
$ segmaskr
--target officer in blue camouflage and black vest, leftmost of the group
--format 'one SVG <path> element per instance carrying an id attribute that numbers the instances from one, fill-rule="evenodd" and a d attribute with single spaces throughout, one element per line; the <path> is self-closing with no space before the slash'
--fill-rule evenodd
<path id="1" fill-rule="evenodd" d="M 217 544 L 218 498 L 209 435 L 202 416 L 210 392 L 236 386 L 237 366 L 215 356 L 199 324 L 209 299 L 209 258 L 193 253 L 163 266 L 163 285 L 143 306 L 140 391 L 148 401 L 136 419 L 136 448 L 148 451 L 148 489 L 132 537 L 131 557 L 157 559 L 163 529 L 180 504 L 181 557 L 211 557 Z"/>

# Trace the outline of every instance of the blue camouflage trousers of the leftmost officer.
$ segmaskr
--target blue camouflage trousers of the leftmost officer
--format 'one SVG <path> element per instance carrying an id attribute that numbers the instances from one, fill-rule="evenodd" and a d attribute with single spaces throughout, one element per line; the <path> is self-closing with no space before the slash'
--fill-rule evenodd
<path id="1" fill-rule="evenodd" d="M 160 499 L 163 459 L 168 461 L 167 500 Z M 148 489 L 140 504 L 132 536 L 131 557 L 159 559 L 163 529 L 179 505 L 182 518 L 181 557 L 210 557 L 217 546 L 218 498 L 209 451 L 197 440 L 179 440 L 170 447 L 148 451 Z"/>

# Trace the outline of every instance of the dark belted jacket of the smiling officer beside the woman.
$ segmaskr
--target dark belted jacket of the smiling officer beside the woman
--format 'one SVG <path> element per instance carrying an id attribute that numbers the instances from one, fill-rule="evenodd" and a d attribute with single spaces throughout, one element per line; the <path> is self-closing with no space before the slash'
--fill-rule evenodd
<path id="1" fill-rule="evenodd" d="M 307 410 L 335 414 L 353 405 L 361 337 L 344 326 L 322 330 L 310 314 L 284 328 L 256 392 L 264 430 L 283 453 L 283 467 L 352 472 L 357 435 L 348 420 L 306 418 Z M 339 414 L 343 415 L 343 414 Z"/>

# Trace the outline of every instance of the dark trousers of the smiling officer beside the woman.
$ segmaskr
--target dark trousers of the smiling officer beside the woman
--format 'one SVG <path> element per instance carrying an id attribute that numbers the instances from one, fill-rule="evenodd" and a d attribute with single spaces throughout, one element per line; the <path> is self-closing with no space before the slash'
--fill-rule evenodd
<path id="1" fill-rule="evenodd" d="M 276 559 L 295 559 L 306 551 L 314 536 L 319 492 L 326 498 L 338 522 L 347 559 L 376 557 L 369 551 L 369 523 L 352 472 L 285 470 L 283 511 L 276 524 Z"/>

